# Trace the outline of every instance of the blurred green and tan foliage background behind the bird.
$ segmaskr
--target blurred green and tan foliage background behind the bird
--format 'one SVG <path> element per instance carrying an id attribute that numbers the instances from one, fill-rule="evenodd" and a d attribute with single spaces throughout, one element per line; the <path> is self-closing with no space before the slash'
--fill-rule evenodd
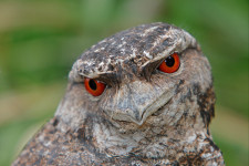
<path id="1" fill-rule="evenodd" d="M 248 165 L 248 0 L 0 0 L 0 165 L 53 116 L 85 49 L 158 21 L 201 44 L 217 93 L 214 139 L 228 166 Z"/>

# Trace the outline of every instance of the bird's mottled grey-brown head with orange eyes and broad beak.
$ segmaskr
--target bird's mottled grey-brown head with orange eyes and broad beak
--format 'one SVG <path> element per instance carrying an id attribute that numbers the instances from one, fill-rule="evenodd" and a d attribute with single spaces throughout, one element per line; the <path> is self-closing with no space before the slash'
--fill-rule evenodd
<path id="1" fill-rule="evenodd" d="M 90 120 L 126 129 L 183 118 L 208 126 L 212 116 L 208 60 L 188 32 L 166 23 L 104 39 L 76 60 L 69 80 L 55 115 L 73 128 Z"/>

